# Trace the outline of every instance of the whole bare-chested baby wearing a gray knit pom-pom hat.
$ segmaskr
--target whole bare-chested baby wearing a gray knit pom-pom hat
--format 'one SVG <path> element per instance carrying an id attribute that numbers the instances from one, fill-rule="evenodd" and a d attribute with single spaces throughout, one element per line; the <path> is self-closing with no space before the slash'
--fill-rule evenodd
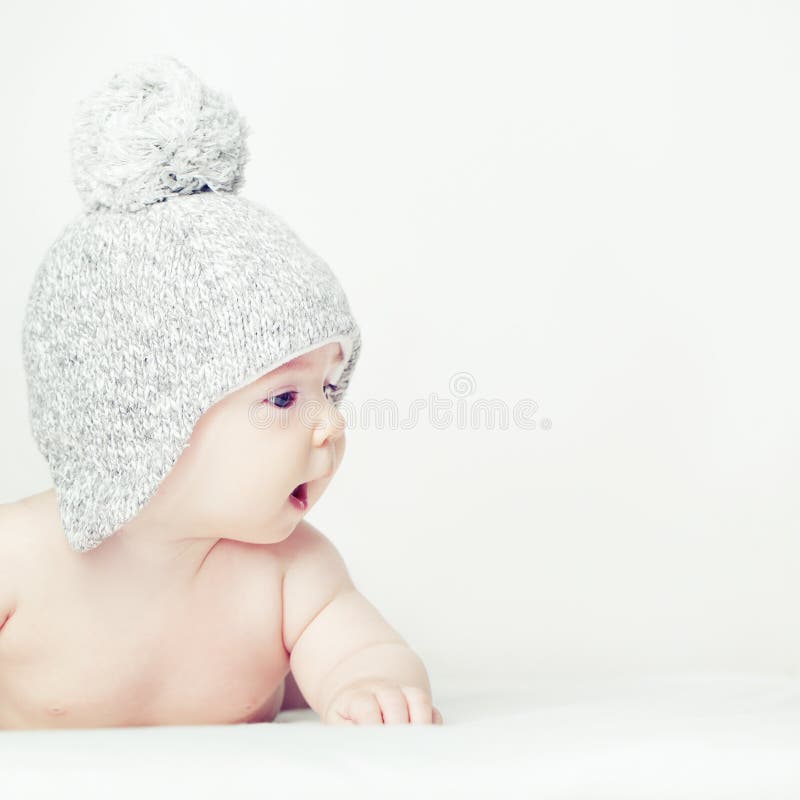
<path id="1" fill-rule="evenodd" d="M 55 485 L 0 506 L 0 729 L 443 722 L 304 519 L 344 455 L 360 334 L 329 267 L 237 196 L 243 134 L 169 57 L 83 104 L 85 214 L 23 329 Z"/>

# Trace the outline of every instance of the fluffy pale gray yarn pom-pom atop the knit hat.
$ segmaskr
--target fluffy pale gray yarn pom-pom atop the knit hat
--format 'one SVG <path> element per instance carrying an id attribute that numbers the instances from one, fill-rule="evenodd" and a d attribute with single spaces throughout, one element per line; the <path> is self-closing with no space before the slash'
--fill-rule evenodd
<path id="1" fill-rule="evenodd" d="M 172 195 L 236 192 L 246 121 L 168 55 L 132 62 L 78 103 L 72 175 L 86 211 L 138 211 Z"/>

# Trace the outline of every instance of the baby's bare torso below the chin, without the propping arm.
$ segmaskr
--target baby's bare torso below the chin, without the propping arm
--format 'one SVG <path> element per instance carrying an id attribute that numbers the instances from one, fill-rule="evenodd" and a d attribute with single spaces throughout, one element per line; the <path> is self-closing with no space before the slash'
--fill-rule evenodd
<path id="1" fill-rule="evenodd" d="M 190 588 L 143 587 L 69 548 L 52 489 L 14 505 L 0 729 L 274 719 L 289 671 L 276 548 L 221 539 Z"/>

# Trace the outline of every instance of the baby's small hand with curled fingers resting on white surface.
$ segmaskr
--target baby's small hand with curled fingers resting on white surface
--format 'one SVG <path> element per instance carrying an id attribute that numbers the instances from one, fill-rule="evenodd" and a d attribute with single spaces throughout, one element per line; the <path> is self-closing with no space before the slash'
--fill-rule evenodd
<path id="1" fill-rule="evenodd" d="M 425 689 L 389 681 L 366 681 L 334 696 L 323 722 L 328 725 L 442 725 Z"/>

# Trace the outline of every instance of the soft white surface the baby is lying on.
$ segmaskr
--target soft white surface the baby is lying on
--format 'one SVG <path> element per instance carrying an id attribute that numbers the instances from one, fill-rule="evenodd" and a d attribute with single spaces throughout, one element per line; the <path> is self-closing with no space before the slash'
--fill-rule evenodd
<path id="1" fill-rule="evenodd" d="M 437 688 L 445 725 L 0 732 L 4 798 L 800 797 L 800 679 L 674 674 Z"/>

